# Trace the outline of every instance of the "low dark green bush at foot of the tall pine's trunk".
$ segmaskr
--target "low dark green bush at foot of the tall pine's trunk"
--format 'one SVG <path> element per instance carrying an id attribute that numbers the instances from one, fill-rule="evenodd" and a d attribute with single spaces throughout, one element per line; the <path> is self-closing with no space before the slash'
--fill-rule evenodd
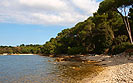
<path id="1" fill-rule="evenodd" d="M 119 54 L 124 52 L 126 49 L 133 49 L 133 45 L 129 42 L 121 43 L 112 48 L 112 54 Z"/>

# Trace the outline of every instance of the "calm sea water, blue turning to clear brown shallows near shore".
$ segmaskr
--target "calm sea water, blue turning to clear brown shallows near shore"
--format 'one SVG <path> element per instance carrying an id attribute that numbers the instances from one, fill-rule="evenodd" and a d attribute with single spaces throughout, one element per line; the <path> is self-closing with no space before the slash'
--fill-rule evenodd
<path id="1" fill-rule="evenodd" d="M 0 83 L 77 83 L 98 68 L 79 62 L 55 63 L 54 58 L 39 55 L 0 56 Z"/>

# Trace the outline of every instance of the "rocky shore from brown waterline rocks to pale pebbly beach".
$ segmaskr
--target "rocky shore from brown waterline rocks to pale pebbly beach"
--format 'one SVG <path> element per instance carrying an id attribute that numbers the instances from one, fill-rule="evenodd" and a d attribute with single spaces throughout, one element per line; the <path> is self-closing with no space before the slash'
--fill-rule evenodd
<path id="1" fill-rule="evenodd" d="M 102 66 L 103 71 L 83 79 L 80 83 L 133 83 L 133 56 L 124 55 L 64 55 L 56 62 L 78 61 Z"/>

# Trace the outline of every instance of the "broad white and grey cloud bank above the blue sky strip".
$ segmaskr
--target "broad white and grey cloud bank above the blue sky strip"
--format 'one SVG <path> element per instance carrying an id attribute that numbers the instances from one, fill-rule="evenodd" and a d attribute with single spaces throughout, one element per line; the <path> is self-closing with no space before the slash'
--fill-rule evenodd
<path id="1" fill-rule="evenodd" d="M 0 22 L 72 25 L 98 8 L 96 0 L 0 0 Z"/>

